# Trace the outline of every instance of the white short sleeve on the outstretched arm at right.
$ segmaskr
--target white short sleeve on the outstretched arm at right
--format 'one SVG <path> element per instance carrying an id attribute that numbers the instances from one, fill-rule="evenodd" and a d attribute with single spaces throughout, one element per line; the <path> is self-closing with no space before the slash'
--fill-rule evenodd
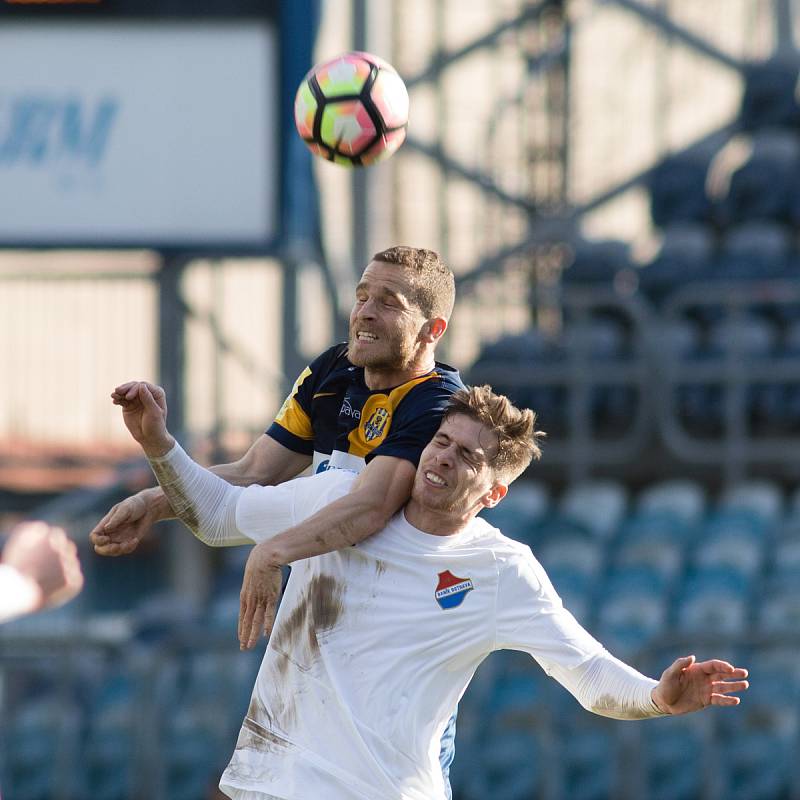
<path id="1" fill-rule="evenodd" d="M 603 650 L 522 545 L 501 562 L 496 625 L 497 649 L 529 653 L 548 674 L 556 666 L 573 669 Z"/>

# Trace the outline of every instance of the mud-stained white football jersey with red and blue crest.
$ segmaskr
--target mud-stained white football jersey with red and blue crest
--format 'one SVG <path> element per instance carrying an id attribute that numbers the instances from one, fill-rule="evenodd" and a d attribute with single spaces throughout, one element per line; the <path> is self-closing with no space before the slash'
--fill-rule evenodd
<path id="1" fill-rule="evenodd" d="M 332 470 L 244 489 L 236 525 L 263 541 L 353 479 Z M 356 547 L 296 562 L 220 786 L 287 800 L 444 798 L 442 732 L 503 648 L 547 672 L 602 651 L 530 548 L 483 519 L 434 536 L 400 512 Z"/>

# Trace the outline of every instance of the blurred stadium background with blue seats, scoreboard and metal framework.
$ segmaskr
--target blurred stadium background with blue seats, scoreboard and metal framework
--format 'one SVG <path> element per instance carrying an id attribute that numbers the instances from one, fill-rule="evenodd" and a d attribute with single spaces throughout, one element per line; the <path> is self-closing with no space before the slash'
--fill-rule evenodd
<path id="1" fill-rule="evenodd" d="M 236 459 L 393 244 L 456 272 L 440 358 L 549 434 L 493 520 L 623 659 L 752 679 L 619 723 L 495 655 L 456 800 L 800 796 L 799 41 L 797 0 L 0 5 L 0 519 L 64 525 L 87 575 L 0 628 L 4 797 L 216 797 L 263 651 L 235 638 L 247 549 L 162 524 L 91 551 L 151 484 L 108 395 L 158 381 L 191 451 Z M 411 97 L 355 172 L 291 111 L 348 49 Z"/>

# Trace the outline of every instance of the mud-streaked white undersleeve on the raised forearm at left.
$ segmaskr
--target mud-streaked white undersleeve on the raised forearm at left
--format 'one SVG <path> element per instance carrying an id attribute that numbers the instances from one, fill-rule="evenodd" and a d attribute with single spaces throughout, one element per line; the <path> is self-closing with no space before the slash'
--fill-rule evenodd
<path id="1" fill-rule="evenodd" d="M 174 514 L 200 541 L 212 547 L 252 541 L 236 526 L 241 488 L 196 464 L 177 443 L 148 461 Z"/>

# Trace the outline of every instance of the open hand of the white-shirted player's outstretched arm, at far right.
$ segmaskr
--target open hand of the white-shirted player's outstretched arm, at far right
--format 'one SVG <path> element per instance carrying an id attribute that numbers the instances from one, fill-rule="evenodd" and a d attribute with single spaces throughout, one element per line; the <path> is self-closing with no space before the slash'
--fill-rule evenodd
<path id="1" fill-rule="evenodd" d="M 713 659 L 696 662 L 694 656 L 679 658 L 653 687 L 653 702 L 667 714 L 688 714 L 706 706 L 737 706 L 738 697 L 749 686 L 747 670 L 727 661 Z"/>

